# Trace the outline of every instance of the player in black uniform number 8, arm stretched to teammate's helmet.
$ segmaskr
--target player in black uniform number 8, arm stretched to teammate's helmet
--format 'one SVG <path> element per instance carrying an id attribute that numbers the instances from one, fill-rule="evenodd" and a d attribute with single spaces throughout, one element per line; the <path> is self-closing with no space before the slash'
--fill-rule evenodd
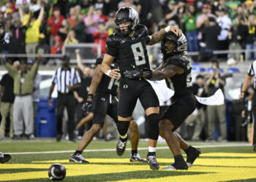
<path id="1" fill-rule="evenodd" d="M 159 100 L 151 84 L 145 79 L 124 78 L 124 71 L 149 69 L 146 45 L 161 41 L 169 31 L 175 32 L 177 36 L 182 32 L 176 27 L 167 26 L 164 30 L 148 36 L 147 28 L 138 24 L 138 21 L 138 12 L 132 7 L 122 7 L 116 12 L 116 33 L 108 36 L 108 50 L 102 62 L 102 72 L 114 79 L 121 74 L 117 124 L 120 138 L 116 145 L 117 154 L 124 154 L 129 121 L 139 98 L 149 123 L 147 161 L 152 170 L 158 170 L 156 146 L 159 136 Z M 119 69 L 110 68 L 115 58 Z"/>

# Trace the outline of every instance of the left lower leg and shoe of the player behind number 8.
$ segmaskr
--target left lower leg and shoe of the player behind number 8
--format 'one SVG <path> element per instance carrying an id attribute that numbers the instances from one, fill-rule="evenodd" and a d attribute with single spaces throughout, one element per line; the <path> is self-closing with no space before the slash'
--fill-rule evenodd
<path id="1" fill-rule="evenodd" d="M 83 150 L 86 149 L 86 146 L 88 146 L 89 143 L 91 143 L 92 138 L 94 138 L 94 136 L 97 135 L 97 133 L 101 129 L 102 129 L 102 127 L 100 124 L 92 125 L 91 129 L 83 135 L 83 138 L 78 145 L 78 149 L 69 158 L 69 162 L 89 163 L 81 156 L 81 154 L 82 154 Z"/>

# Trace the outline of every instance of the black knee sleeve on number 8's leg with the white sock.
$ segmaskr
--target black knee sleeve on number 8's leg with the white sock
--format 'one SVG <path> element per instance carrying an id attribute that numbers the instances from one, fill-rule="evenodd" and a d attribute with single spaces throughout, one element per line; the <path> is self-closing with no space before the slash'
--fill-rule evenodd
<path id="1" fill-rule="evenodd" d="M 157 140 L 159 136 L 159 114 L 150 114 L 148 116 L 148 138 L 152 140 Z"/>

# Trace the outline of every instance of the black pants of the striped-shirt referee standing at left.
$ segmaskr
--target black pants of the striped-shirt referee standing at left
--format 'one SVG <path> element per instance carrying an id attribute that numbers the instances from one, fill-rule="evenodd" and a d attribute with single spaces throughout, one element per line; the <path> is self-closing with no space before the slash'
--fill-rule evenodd
<path id="1" fill-rule="evenodd" d="M 57 136 L 62 135 L 62 118 L 64 107 L 67 108 L 68 122 L 67 131 L 69 134 L 69 141 L 74 140 L 74 129 L 75 129 L 75 98 L 73 93 L 69 94 L 58 94 L 56 99 L 56 110 L 57 110 Z"/>

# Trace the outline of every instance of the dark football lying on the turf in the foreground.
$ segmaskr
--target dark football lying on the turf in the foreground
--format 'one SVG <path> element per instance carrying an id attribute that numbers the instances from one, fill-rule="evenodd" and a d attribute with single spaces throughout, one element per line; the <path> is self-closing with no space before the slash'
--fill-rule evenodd
<path id="1" fill-rule="evenodd" d="M 64 165 L 61 165 L 60 163 L 55 163 L 50 166 L 48 170 L 48 175 L 50 180 L 52 181 L 61 181 L 66 176 L 66 169 Z"/>

